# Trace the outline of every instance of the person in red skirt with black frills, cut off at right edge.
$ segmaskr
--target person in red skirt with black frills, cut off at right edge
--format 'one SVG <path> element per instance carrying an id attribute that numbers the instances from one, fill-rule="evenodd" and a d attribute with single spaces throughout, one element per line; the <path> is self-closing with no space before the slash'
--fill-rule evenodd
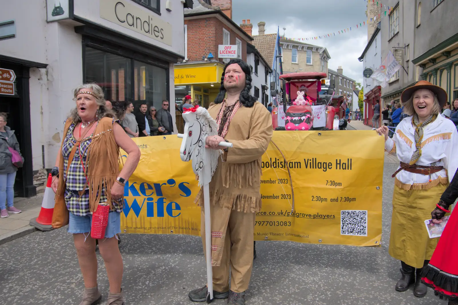
<path id="1" fill-rule="evenodd" d="M 447 110 L 447 109 L 446 109 Z M 441 223 L 442 217 L 450 212 L 450 206 L 458 198 L 458 171 L 455 172 L 452 182 L 436 203 L 436 208 L 431 212 L 433 223 Z M 453 210 L 455 211 L 455 210 Z M 441 299 L 448 299 L 448 305 L 458 305 L 458 267 L 456 253 L 458 251 L 457 235 L 458 212 L 452 212 L 447 221 L 441 238 L 431 261 L 424 268 L 421 281 L 434 289 L 434 294 Z"/>

